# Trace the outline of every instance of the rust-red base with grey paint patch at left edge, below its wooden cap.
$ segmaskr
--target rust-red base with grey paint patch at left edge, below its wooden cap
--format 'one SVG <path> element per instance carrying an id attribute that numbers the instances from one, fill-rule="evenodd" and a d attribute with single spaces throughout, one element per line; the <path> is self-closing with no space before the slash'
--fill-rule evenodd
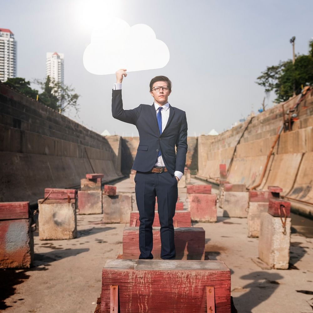
<path id="1" fill-rule="evenodd" d="M 31 219 L 0 220 L 0 268 L 29 268 L 34 258 Z"/>

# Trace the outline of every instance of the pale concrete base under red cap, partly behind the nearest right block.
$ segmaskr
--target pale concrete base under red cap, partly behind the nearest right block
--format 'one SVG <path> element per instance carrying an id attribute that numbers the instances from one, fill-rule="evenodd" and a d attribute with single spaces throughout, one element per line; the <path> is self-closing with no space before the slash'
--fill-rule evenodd
<path id="1" fill-rule="evenodd" d="M 258 238 L 260 233 L 261 214 L 267 212 L 269 204 L 266 202 L 250 202 L 248 211 L 248 237 Z"/>

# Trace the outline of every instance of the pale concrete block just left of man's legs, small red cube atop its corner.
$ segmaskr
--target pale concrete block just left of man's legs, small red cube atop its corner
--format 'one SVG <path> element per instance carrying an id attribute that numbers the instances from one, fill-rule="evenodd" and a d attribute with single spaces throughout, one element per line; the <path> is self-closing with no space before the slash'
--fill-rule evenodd
<path id="1" fill-rule="evenodd" d="M 105 223 L 128 223 L 132 211 L 132 195 L 131 193 L 102 195 L 102 208 Z"/>

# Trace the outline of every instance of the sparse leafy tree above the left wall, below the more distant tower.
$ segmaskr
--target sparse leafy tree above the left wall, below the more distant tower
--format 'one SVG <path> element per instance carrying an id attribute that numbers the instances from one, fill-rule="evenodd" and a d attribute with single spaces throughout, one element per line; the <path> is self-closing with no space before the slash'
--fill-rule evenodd
<path id="1" fill-rule="evenodd" d="M 59 111 L 59 113 L 63 113 L 69 108 L 74 108 L 76 113 L 79 111 L 77 101 L 80 95 L 74 93 L 75 88 L 55 81 L 50 76 L 47 76 L 44 80 L 36 79 L 34 83 L 42 89 L 42 93 L 39 95 L 39 101 L 44 105 Z"/>

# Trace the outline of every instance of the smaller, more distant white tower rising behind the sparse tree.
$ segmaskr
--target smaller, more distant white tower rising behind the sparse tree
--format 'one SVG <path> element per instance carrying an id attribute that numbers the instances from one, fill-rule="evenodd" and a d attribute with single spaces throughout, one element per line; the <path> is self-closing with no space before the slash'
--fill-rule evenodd
<path id="1" fill-rule="evenodd" d="M 46 76 L 64 84 L 64 54 L 47 52 Z"/>

